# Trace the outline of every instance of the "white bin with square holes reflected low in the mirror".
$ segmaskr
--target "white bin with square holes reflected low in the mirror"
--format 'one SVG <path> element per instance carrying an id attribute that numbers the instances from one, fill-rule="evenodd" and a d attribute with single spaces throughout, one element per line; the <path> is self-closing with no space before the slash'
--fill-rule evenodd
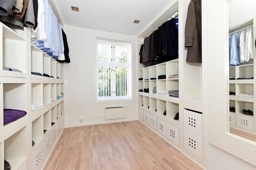
<path id="1" fill-rule="evenodd" d="M 237 127 L 253 131 L 254 119 L 252 116 L 249 117 L 249 116 L 237 115 L 236 121 L 237 121 Z"/>

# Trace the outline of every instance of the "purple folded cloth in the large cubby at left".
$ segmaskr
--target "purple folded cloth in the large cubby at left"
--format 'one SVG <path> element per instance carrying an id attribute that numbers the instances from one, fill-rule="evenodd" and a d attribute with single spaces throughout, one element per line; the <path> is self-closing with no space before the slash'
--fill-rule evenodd
<path id="1" fill-rule="evenodd" d="M 4 125 L 14 122 L 27 114 L 26 111 L 15 109 L 4 109 Z"/>

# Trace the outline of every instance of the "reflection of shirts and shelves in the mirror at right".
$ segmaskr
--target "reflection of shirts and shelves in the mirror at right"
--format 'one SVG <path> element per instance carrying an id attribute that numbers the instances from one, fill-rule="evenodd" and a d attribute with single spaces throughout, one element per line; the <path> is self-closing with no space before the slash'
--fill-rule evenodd
<path id="1" fill-rule="evenodd" d="M 256 142 L 256 1 L 232 0 L 228 6 L 230 133 Z"/>

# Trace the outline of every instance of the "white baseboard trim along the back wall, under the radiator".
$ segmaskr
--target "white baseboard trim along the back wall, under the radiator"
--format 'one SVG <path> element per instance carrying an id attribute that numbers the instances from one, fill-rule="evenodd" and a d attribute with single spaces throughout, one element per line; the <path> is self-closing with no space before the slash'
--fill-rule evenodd
<path id="1" fill-rule="evenodd" d="M 118 123 L 118 122 L 130 122 L 135 120 L 139 120 L 138 116 L 122 118 L 122 119 L 113 119 L 113 120 L 95 120 L 95 121 L 87 121 L 82 123 L 80 122 L 66 123 L 65 128 L 81 127 L 81 126 L 89 126 L 89 125 L 102 125 L 102 124 Z"/>

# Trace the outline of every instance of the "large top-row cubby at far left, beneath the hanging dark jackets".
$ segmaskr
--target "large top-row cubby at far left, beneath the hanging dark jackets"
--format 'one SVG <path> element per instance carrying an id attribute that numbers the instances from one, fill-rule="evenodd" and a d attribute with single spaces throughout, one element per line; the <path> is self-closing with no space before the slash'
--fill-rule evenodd
<path id="1" fill-rule="evenodd" d="M 2 41 L 3 66 L 8 68 L 18 69 L 22 71 L 22 73 L 26 73 L 26 70 L 27 70 L 26 41 L 23 41 L 21 39 L 15 39 L 14 36 L 9 36 L 10 34 L 5 34 L 5 31 L 7 31 L 7 29 L 3 29 L 3 41 Z"/>

